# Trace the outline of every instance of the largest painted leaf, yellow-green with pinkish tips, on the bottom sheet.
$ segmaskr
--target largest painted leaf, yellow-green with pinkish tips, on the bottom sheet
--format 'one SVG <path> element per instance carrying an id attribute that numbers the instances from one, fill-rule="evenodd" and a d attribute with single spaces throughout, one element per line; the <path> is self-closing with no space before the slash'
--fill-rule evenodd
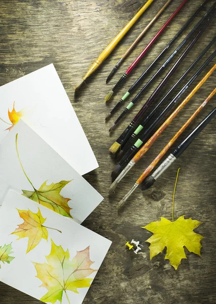
<path id="1" fill-rule="evenodd" d="M 78 293 L 77 288 L 90 287 L 93 279 L 87 278 L 93 272 L 90 266 L 90 247 L 77 251 L 76 256 L 70 261 L 69 250 L 64 251 L 51 240 L 52 249 L 46 256 L 47 263 L 33 263 L 37 271 L 37 278 L 42 281 L 40 287 L 45 287 L 48 292 L 40 299 L 44 302 L 55 304 L 57 300 L 62 303 L 63 292 L 70 303 L 67 291 Z"/>

